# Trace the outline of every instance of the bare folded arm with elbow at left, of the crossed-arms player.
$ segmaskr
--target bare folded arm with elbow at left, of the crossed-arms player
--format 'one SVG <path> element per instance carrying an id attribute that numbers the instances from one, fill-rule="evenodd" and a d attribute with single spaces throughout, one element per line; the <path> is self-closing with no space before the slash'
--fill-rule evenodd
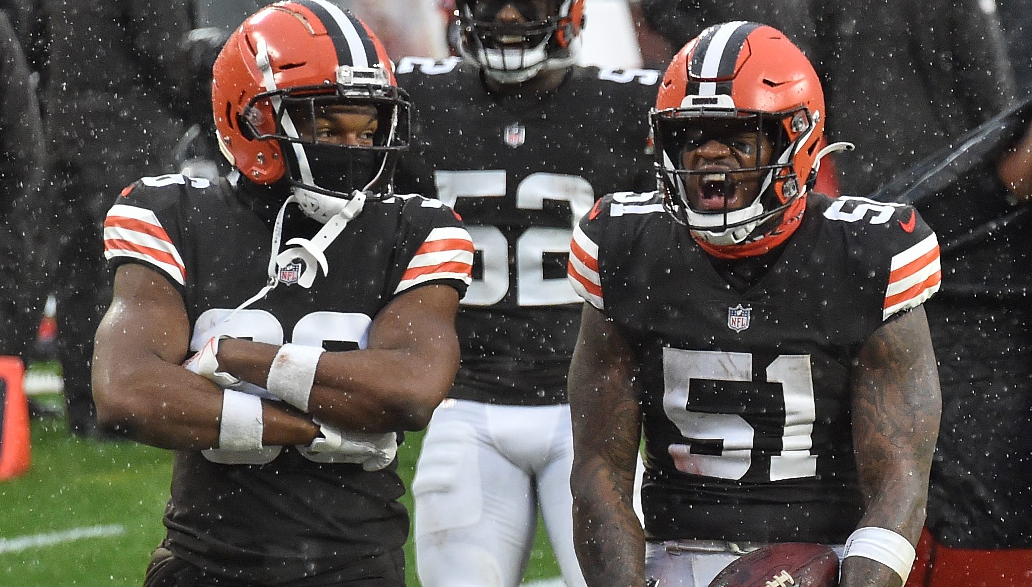
<path id="1" fill-rule="evenodd" d="M 127 263 L 97 329 L 93 394 L 109 432 L 155 447 L 217 448 L 223 390 L 183 368 L 190 323 L 183 297 L 157 271 Z M 312 419 L 282 401 L 262 401 L 266 445 L 308 445 Z"/>

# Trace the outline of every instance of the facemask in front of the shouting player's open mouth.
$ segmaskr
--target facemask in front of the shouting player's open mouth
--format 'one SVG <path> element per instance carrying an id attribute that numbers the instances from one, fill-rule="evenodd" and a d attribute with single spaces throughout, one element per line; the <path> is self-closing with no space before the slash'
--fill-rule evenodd
<path id="1" fill-rule="evenodd" d="M 698 238 L 712 244 L 740 244 L 763 237 L 804 193 L 803 182 L 793 167 L 793 155 L 808 133 L 797 130 L 793 133 L 796 139 L 791 140 L 785 125 L 798 129 L 799 121 L 807 122 L 808 116 L 805 108 L 789 112 L 733 107 L 653 111 L 656 173 L 668 211 Z M 743 136 L 754 139 L 743 140 Z M 724 165 L 686 168 L 685 150 L 694 151 L 709 140 L 723 144 L 740 163 L 748 159 L 752 164 L 730 169 Z M 698 207 L 689 193 L 699 201 Z"/>

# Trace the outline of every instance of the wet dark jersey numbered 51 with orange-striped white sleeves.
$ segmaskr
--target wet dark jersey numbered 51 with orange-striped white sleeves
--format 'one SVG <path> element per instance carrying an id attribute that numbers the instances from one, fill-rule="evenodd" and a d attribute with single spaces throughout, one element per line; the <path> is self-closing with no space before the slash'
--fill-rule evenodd
<path id="1" fill-rule="evenodd" d="M 607 196 L 571 251 L 571 282 L 639 361 L 647 535 L 843 544 L 862 514 L 851 362 L 941 279 L 913 208 L 811 194 L 743 291 L 657 193 Z"/>

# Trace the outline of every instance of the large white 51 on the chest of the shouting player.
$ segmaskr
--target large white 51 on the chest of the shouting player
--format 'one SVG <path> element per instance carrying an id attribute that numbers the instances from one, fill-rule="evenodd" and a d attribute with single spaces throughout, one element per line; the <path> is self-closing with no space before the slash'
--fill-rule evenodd
<path id="1" fill-rule="evenodd" d="M 689 410 L 691 380 L 752 381 L 752 355 L 664 349 L 663 409 L 688 442 L 670 446 L 678 470 L 719 479 L 742 479 L 752 465 L 755 429 L 737 414 Z M 816 407 L 809 355 L 781 355 L 767 365 L 767 382 L 781 384 L 785 421 L 781 452 L 771 456 L 769 481 L 814 477 Z M 692 442 L 707 449 L 692 452 Z M 698 449 L 698 447 L 697 447 Z M 700 454 L 705 453 L 705 454 Z"/>

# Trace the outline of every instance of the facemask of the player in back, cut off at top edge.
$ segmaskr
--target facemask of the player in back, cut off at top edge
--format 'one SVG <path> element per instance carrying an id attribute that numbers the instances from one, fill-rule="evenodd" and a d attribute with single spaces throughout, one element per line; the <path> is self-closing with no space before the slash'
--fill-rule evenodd
<path id="1" fill-rule="evenodd" d="M 499 84 L 519 84 L 543 70 L 573 65 L 580 47 L 580 24 L 570 14 L 574 0 L 547 3 L 543 8 L 540 0 L 459 0 L 462 55 Z M 497 21 L 507 4 L 524 21 Z"/>

